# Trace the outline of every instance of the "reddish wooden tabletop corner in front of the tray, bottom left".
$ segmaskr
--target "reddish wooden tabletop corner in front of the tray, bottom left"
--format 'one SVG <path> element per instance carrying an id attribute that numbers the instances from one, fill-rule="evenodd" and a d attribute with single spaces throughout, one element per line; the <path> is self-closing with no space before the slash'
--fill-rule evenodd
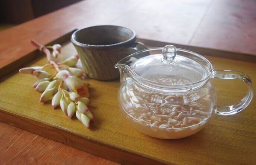
<path id="1" fill-rule="evenodd" d="M 0 123 L 0 164 L 117 164 Z M 14 135 L 14 136 L 13 136 Z"/>

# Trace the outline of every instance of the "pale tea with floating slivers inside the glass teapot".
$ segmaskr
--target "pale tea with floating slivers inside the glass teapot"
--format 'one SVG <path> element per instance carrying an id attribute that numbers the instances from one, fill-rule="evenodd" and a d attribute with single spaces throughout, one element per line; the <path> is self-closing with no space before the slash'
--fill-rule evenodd
<path id="1" fill-rule="evenodd" d="M 151 76 L 146 79 L 170 85 L 189 83 L 182 77 Z M 212 117 L 214 96 L 210 83 L 199 90 L 178 94 L 164 94 L 144 90 L 130 78 L 120 90 L 119 98 L 127 119 L 139 131 L 154 137 L 182 138 L 202 129 Z"/>

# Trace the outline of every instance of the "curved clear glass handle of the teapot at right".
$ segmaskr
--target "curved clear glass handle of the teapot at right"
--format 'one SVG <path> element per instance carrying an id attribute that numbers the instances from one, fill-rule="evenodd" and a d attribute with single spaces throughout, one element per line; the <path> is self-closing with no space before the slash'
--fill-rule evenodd
<path id="1" fill-rule="evenodd" d="M 250 104 L 253 98 L 254 91 L 251 78 L 243 72 L 230 70 L 214 70 L 214 74 L 214 78 L 220 78 L 225 80 L 238 79 L 244 81 L 248 86 L 247 94 L 241 101 L 231 106 L 216 106 L 215 113 L 219 115 L 232 115 L 244 110 Z"/>

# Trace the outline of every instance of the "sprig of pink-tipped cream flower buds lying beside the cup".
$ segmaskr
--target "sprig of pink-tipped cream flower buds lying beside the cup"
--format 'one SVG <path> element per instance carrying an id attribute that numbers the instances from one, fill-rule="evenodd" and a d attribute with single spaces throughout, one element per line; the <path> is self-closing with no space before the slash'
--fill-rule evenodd
<path id="1" fill-rule="evenodd" d="M 63 62 L 56 62 L 54 58 L 60 55 L 61 45 L 44 46 L 34 40 L 31 41 L 39 51 L 45 53 L 48 63 L 42 67 L 26 67 L 19 70 L 21 74 L 31 74 L 39 80 L 34 83 L 36 91 L 42 92 L 40 102 L 51 100 L 53 109 L 60 106 L 60 109 L 66 116 L 71 119 L 74 114 L 88 129 L 90 121 L 94 120 L 94 116 L 89 111 L 88 106 L 91 104 L 89 100 L 89 83 L 84 81 L 85 72 L 76 67 L 79 56 L 71 56 Z M 52 56 L 49 49 L 52 49 Z M 45 71 L 51 66 L 55 69 L 53 73 Z M 54 96 L 53 96 L 54 95 Z"/>

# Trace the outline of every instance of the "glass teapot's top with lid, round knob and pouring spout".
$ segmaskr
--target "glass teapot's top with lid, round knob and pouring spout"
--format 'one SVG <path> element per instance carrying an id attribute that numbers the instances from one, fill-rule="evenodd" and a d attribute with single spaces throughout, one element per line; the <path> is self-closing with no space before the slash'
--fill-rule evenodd
<path id="1" fill-rule="evenodd" d="M 203 56 L 174 45 L 145 49 L 127 56 L 120 63 L 128 65 L 133 78 L 141 84 L 165 90 L 184 89 L 190 85 L 187 90 L 193 90 L 193 84 L 208 80 L 213 69 Z"/>

